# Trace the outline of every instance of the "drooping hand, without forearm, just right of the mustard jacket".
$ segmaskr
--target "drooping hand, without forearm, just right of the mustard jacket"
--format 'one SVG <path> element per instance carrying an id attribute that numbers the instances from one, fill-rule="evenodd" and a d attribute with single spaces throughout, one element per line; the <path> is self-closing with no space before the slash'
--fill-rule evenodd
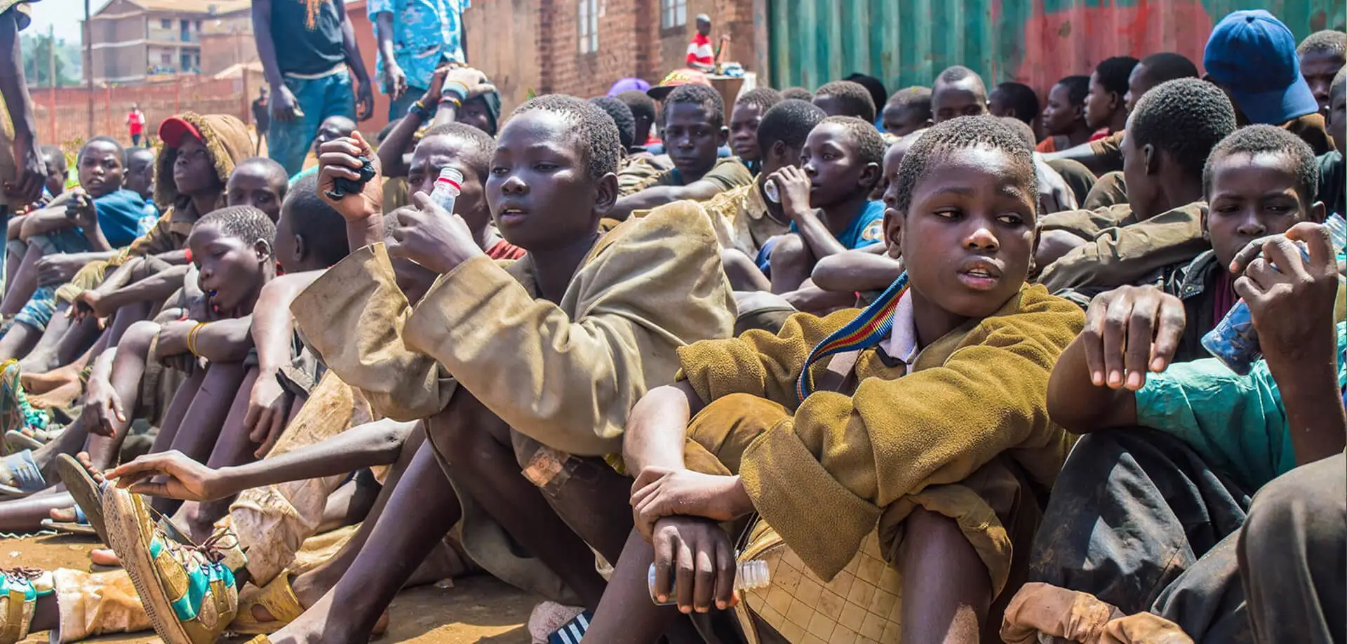
<path id="1" fill-rule="evenodd" d="M 1153 286 L 1125 286 L 1096 295 L 1080 331 L 1090 381 L 1110 389 L 1140 389 L 1148 371 L 1160 373 L 1173 361 L 1185 321 L 1183 302 Z"/>

